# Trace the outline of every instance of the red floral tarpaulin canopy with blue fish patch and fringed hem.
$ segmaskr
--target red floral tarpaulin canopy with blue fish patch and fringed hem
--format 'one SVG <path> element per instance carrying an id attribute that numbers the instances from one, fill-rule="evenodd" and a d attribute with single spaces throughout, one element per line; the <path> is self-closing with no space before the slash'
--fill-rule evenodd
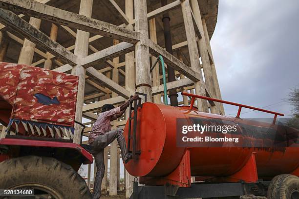
<path id="1" fill-rule="evenodd" d="M 32 134 L 50 132 L 53 137 L 56 130 L 72 137 L 78 80 L 65 73 L 0 62 L 0 97 L 12 106 L 8 127 L 15 122 L 18 131 L 22 123 Z"/>

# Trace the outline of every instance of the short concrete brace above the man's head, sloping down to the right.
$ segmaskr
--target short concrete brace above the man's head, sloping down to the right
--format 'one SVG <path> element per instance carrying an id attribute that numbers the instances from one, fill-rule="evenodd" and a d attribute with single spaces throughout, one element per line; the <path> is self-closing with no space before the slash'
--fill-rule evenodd
<path id="1" fill-rule="evenodd" d="M 99 80 L 102 82 L 105 87 L 110 89 L 111 91 L 117 93 L 118 95 L 128 99 L 130 97 L 130 92 L 123 88 L 122 86 L 118 85 L 118 83 L 115 83 L 113 80 L 110 80 L 102 73 L 99 73 L 95 68 L 89 67 L 86 69 L 86 73 L 88 73 L 89 77 L 92 77 L 96 80 Z"/>

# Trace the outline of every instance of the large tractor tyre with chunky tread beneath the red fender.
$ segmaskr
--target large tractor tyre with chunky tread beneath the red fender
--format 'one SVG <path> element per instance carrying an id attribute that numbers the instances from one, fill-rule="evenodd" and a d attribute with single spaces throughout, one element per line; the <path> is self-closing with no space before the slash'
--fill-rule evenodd
<path id="1" fill-rule="evenodd" d="M 53 158 L 25 156 L 0 162 L 0 187 L 31 188 L 39 199 L 90 199 L 85 180 Z"/>

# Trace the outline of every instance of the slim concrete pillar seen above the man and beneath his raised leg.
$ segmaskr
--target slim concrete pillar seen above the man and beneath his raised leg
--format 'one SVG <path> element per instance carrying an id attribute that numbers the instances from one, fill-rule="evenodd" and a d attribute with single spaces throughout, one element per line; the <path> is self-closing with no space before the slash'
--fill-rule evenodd
<path id="1" fill-rule="evenodd" d="M 113 45 L 118 44 L 118 40 L 113 40 Z M 114 58 L 113 63 L 117 64 L 119 63 L 119 58 Z M 115 67 L 112 69 L 112 80 L 116 83 L 118 83 L 118 69 Z M 112 92 L 112 98 L 117 97 L 118 95 L 114 92 Z M 118 144 L 117 140 L 115 139 L 111 144 L 110 144 L 110 174 L 109 174 L 109 195 L 110 196 L 116 196 L 117 195 L 117 184 L 118 184 Z"/>

